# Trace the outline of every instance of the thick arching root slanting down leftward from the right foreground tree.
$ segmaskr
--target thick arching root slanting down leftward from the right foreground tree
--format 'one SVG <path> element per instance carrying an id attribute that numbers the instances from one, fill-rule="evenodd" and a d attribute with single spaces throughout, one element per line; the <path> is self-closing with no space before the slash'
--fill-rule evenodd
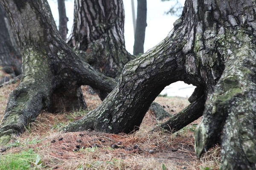
<path id="1" fill-rule="evenodd" d="M 176 25 L 178 30 L 183 25 Z M 128 62 L 119 84 L 93 111 L 72 122 L 65 130 L 95 129 L 107 133 L 130 133 L 138 130 L 151 102 L 170 83 L 193 82 L 204 86 L 203 79 L 186 70 L 183 46 L 185 31 L 169 34 L 159 45 L 141 57 Z"/>

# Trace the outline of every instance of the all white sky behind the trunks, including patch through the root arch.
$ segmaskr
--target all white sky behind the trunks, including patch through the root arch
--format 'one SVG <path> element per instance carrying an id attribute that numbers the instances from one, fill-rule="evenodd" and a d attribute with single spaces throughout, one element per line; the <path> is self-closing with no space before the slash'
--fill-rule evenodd
<path id="1" fill-rule="evenodd" d="M 48 3 L 52 9 L 52 15 L 55 19 L 56 25 L 58 26 L 58 3 L 57 0 L 48 0 Z M 134 45 L 134 29 L 131 13 L 131 0 L 123 0 L 125 8 L 125 46 L 128 52 L 133 53 Z M 180 0 L 183 5 L 185 0 Z M 172 1 L 161 0 L 147 0 L 147 27 L 145 32 L 145 43 L 144 52 L 157 45 L 162 41 L 173 28 L 173 23 L 177 20 L 177 17 L 166 15 L 165 11 L 174 4 Z M 73 11 L 74 11 L 74 0 L 67 0 L 65 2 L 66 12 L 69 21 L 67 27 L 69 34 L 73 26 Z M 134 0 L 135 16 L 137 16 L 137 0 Z M 186 88 L 189 87 L 189 88 Z M 192 85 L 186 85 L 183 82 L 176 82 L 166 87 L 161 94 L 167 93 L 168 96 L 183 96 L 189 97 L 194 88 Z"/>

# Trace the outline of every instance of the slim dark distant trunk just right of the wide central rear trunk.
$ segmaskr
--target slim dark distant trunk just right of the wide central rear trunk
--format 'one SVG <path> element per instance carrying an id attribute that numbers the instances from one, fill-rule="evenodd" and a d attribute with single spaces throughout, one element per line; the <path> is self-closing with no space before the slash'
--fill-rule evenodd
<path id="1" fill-rule="evenodd" d="M 134 35 L 134 55 L 144 53 L 145 31 L 147 26 L 147 0 L 138 0 L 136 31 Z"/>

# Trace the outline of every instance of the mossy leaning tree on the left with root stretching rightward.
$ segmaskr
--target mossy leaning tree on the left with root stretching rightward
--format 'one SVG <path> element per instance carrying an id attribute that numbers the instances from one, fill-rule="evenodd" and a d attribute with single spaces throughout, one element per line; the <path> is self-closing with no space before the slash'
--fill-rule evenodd
<path id="1" fill-rule="evenodd" d="M 97 72 L 61 39 L 47 0 L 0 2 L 18 37 L 23 57 L 20 84 L 9 96 L 0 125 L 1 144 L 8 142 L 13 134 L 22 133 L 43 108 L 51 111 L 85 108 L 81 85 L 108 93 L 113 90 L 114 79 Z"/>

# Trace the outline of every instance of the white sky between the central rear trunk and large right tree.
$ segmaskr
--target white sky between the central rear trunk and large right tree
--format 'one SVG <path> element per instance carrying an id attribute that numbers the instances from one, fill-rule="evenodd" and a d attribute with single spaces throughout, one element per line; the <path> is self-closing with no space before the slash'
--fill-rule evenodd
<path id="1" fill-rule="evenodd" d="M 134 29 L 131 14 L 131 0 L 123 0 L 125 7 L 125 46 L 133 53 Z M 184 2 L 183 2 L 184 3 Z M 173 28 L 177 17 L 166 15 L 172 1 L 147 0 L 147 27 L 145 32 L 144 52 L 162 41 Z M 135 16 L 137 16 L 137 0 L 134 0 Z"/>

